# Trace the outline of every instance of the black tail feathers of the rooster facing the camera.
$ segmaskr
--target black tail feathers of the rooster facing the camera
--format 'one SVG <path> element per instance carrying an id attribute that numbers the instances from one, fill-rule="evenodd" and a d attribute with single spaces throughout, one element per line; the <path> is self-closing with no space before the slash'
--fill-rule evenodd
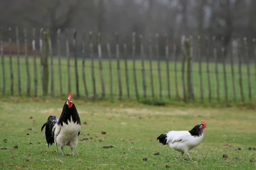
<path id="1" fill-rule="evenodd" d="M 56 116 L 49 116 L 47 119 L 47 122 L 45 122 L 41 128 L 41 131 L 43 131 L 45 127 L 45 138 L 46 138 L 48 147 L 49 147 L 49 144 L 51 144 L 52 146 L 52 144 L 54 143 L 54 134 L 52 133 L 52 129 L 54 125 L 57 123 L 58 123 L 58 118 Z"/>

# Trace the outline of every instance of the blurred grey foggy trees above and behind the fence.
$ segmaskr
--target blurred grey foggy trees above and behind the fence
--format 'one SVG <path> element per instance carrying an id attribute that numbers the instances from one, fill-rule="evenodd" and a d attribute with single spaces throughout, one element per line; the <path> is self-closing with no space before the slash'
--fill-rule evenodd
<path id="1" fill-rule="evenodd" d="M 93 32 L 94 44 L 98 32 L 102 33 L 102 57 L 107 57 L 107 36 L 112 51 L 115 49 L 114 34 L 119 34 L 122 54 L 123 37 L 127 36 L 128 55 L 131 55 L 132 32 L 136 32 L 136 53 L 140 55 L 139 35 L 143 35 L 144 45 L 148 45 L 148 35 L 160 35 L 160 56 L 165 55 L 164 34 L 168 34 L 170 54 L 173 53 L 173 39 L 177 38 L 180 55 L 181 36 L 193 38 L 193 60 L 197 54 L 197 36 L 201 36 L 202 54 L 205 55 L 205 37 L 210 43 L 210 57 L 213 61 L 212 36 L 216 37 L 218 60 L 221 61 L 221 37 L 224 38 L 225 57 L 233 49 L 237 62 L 237 39 L 241 39 L 244 60 L 243 38 L 247 37 L 249 57 L 253 59 L 253 38 L 256 37 L 256 0 L 1 0 L 0 25 L 3 26 L 4 53 L 9 37 L 15 43 L 15 27 L 19 28 L 20 48 L 24 42 L 23 29 L 28 32 L 28 42 L 32 42 L 32 29 L 36 29 L 36 47 L 39 30 L 49 29 L 53 55 L 57 52 L 57 30 L 61 29 L 61 55 L 66 56 L 65 30 L 69 31 L 70 55 L 73 54 L 73 31 L 77 30 L 77 54 L 81 57 L 83 31 L 86 32 L 86 57 L 89 57 L 89 32 Z M 12 28 L 11 33 L 8 28 Z M 12 48 L 15 48 L 13 45 Z M 30 48 L 29 48 L 30 49 Z M 147 49 L 145 48 L 145 53 Z M 153 46 L 154 49 L 154 46 Z M 13 50 L 15 53 L 15 50 Z M 22 54 L 22 49 L 20 49 Z M 97 52 L 97 45 L 94 45 Z M 130 56 L 131 57 L 131 56 Z M 122 55 L 121 55 L 122 58 Z M 178 60 L 180 60 L 179 57 Z M 205 60 L 206 57 L 203 57 Z M 173 57 L 170 58 L 171 60 Z"/>

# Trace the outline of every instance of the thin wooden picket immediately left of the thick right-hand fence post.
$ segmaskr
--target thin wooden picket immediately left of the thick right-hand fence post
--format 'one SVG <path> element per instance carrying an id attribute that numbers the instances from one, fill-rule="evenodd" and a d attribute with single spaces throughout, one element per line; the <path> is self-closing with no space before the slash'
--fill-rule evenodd
<path id="1" fill-rule="evenodd" d="M 181 53 L 182 53 L 182 65 L 181 65 L 181 80 L 182 80 L 182 87 L 183 87 L 183 100 L 187 102 L 186 99 L 186 85 L 185 85 L 185 62 L 186 62 L 186 49 L 185 49 L 185 36 L 181 37 Z"/>

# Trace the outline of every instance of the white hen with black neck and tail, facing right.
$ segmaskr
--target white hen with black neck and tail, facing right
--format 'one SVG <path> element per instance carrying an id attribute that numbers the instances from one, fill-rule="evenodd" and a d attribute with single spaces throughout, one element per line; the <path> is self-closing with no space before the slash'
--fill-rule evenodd
<path id="1" fill-rule="evenodd" d="M 182 159 L 183 153 L 192 159 L 189 156 L 189 150 L 198 146 L 201 141 L 204 139 L 204 128 L 207 128 L 206 123 L 201 121 L 193 127 L 191 130 L 183 130 L 183 131 L 170 131 L 168 133 L 163 133 L 157 137 L 160 143 L 169 144 L 169 146 L 173 150 L 177 150 L 181 152 L 180 159 Z"/>

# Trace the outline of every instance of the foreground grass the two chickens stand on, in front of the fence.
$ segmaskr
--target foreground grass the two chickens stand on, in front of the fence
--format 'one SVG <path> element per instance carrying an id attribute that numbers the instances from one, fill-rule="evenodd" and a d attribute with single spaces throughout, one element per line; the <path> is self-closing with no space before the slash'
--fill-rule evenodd
<path id="1" fill-rule="evenodd" d="M 247 149 L 256 147 L 254 110 L 74 101 L 82 125 L 72 157 L 68 147 L 64 147 L 65 156 L 60 149 L 55 152 L 55 145 L 48 148 L 41 132 L 49 115 L 60 116 L 62 100 L 0 102 L 0 147 L 7 148 L 0 150 L 0 169 L 158 170 L 166 169 L 166 165 L 182 170 L 256 168 L 256 150 Z M 184 160 L 186 156 L 180 161 L 180 153 L 156 140 L 169 130 L 190 130 L 201 120 L 208 128 L 201 144 L 190 151 L 194 161 Z M 80 141 L 84 138 L 89 140 Z M 8 141 L 4 143 L 3 139 Z M 13 148 L 15 145 L 18 149 Z M 109 145 L 115 148 L 102 148 Z M 241 150 L 234 151 L 238 147 Z"/>

